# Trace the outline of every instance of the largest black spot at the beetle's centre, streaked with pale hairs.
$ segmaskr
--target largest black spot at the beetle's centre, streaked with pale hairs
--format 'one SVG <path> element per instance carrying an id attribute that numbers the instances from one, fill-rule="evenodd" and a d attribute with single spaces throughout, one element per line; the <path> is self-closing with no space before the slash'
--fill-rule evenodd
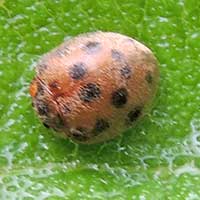
<path id="1" fill-rule="evenodd" d="M 100 97 L 101 91 L 97 84 L 88 83 L 80 90 L 79 97 L 84 102 L 91 102 L 92 100 Z"/>

